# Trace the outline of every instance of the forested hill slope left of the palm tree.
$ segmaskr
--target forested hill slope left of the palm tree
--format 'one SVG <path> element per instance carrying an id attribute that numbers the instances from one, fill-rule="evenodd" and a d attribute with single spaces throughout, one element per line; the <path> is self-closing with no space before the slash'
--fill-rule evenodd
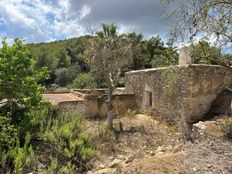
<path id="1" fill-rule="evenodd" d="M 29 44 L 36 67 L 48 67 L 50 79 L 47 85 L 71 84 L 77 74 L 89 71 L 83 54 L 90 36 L 72 38 L 50 43 Z"/>

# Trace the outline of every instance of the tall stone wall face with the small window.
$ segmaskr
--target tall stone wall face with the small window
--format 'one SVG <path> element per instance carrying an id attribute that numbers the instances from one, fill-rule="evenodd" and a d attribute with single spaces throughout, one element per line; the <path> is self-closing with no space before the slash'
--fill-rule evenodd
<path id="1" fill-rule="evenodd" d="M 179 71 L 185 69 L 178 68 Z M 125 77 L 125 92 L 135 95 L 139 110 L 162 116 L 167 121 L 175 121 L 180 116 L 181 100 L 176 95 L 168 95 L 165 92 L 165 78 L 169 76 L 169 72 L 177 75 L 175 70 L 165 67 L 128 72 Z M 183 84 L 182 79 L 178 79 L 178 84 Z M 180 94 L 181 91 L 184 89 L 178 86 L 175 93 Z"/>

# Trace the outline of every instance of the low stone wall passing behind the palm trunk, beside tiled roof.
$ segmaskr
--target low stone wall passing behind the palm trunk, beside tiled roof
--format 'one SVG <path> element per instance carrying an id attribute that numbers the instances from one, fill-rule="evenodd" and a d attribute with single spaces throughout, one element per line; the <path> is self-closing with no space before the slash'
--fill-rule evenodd
<path id="1" fill-rule="evenodd" d="M 100 91 L 100 92 L 99 92 Z M 91 94 L 75 92 L 79 100 L 59 102 L 58 112 L 79 111 L 87 118 L 107 116 L 107 95 L 102 94 L 105 90 L 94 90 Z M 118 90 L 116 90 L 118 91 Z M 133 94 L 123 94 L 123 89 L 119 89 L 118 94 L 113 94 L 112 103 L 115 116 L 124 114 L 128 109 L 136 109 L 136 102 Z"/>

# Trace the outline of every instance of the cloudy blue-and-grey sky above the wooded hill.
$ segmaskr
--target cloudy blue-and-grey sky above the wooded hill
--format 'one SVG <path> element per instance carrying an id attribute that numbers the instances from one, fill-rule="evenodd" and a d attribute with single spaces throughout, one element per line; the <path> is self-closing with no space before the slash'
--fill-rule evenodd
<path id="1" fill-rule="evenodd" d="M 0 0 L 0 36 L 27 43 L 49 42 L 88 34 L 115 22 L 120 32 L 167 38 L 171 21 L 161 16 L 159 0 Z"/>

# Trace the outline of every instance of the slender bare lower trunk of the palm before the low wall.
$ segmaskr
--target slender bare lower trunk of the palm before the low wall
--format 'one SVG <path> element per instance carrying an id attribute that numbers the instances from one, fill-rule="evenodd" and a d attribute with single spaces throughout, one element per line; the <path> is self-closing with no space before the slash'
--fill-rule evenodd
<path id="1" fill-rule="evenodd" d="M 113 94 L 113 89 L 109 87 L 109 89 L 108 89 L 108 102 L 107 102 L 107 109 L 108 109 L 107 121 L 108 121 L 109 129 L 113 129 L 112 94 Z"/>

